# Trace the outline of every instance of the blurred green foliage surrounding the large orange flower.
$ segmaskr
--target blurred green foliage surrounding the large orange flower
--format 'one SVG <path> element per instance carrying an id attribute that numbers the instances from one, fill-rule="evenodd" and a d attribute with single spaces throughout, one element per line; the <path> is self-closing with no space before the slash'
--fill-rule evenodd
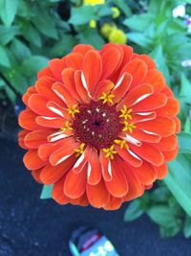
<path id="1" fill-rule="evenodd" d="M 186 19 L 191 0 L 0 0 L 0 100 L 14 105 L 50 58 L 68 54 L 76 43 L 97 49 L 120 31 L 135 52 L 150 55 L 180 100 L 180 152 L 157 188 L 130 203 L 125 221 L 142 214 L 159 224 L 162 237 L 183 231 L 191 237 L 191 36 Z M 173 17 L 179 4 L 184 17 Z M 116 14 L 114 9 L 117 8 Z M 119 34 L 117 34 L 119 35 Z M 189 62 L 190 61 L 190 62 Z M 50 198 L 44 187 L 41 198 Z"/>

